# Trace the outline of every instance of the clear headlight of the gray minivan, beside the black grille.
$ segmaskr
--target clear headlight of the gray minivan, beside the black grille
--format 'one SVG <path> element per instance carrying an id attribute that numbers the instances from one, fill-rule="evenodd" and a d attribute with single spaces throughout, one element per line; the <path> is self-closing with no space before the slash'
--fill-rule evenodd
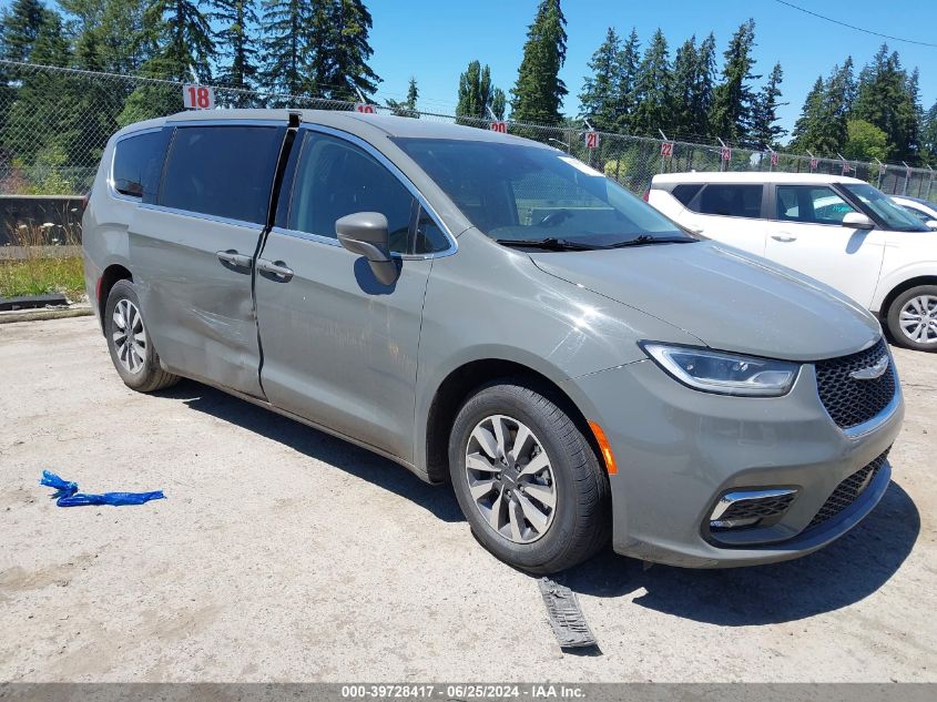
<path id="1" fill-rule="evenodd" d="M 720 395 L 785 395 L 801 369 L 799 365 L 784 360 L 737 356 L 689 346 L 642 342 L 641 348 L 684 385 Z"/>

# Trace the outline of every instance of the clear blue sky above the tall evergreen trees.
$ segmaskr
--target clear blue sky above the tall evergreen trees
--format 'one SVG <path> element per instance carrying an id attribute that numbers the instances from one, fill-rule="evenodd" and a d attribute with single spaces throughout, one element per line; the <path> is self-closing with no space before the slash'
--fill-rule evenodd
<path id="1" fill-rule="evenodd" d="M 792 0 L 849 24 L 916 41 L 937 43 L 935 0 Z M 527 28 L 538 0 L 367 0 L 374 18 L 371 68 L 384 79 L 377 96 L 403 99 L 413 75 L 422 110 L 455 109 L 459 74 L 478 59 L 491 67 L 495 85 L 513 87 Z M 670 57 L 691 34 L 697 40 L 713 31 L 722 52 L 743 21 L 755 19 L 755 73 L 767 74 L 775 61 L 784 69 L 781 125 L 792 130 L 804 98 L 817 75 L 852 55 L 857 71 L 884 39 L 804 14 L 775 0 L 563 0 L 567 18 L 567 60 L 560 78 L 567 84 L 563 111 L 577 114 L 577 95 L 589 72 L 587 63 L 614 27 L 621 35 L 638 30 L 642 49 L 660 27 Z M 937 101 L 937 48 L 888 41 L 903 65 L 920 68 L 925 109 Z"/>

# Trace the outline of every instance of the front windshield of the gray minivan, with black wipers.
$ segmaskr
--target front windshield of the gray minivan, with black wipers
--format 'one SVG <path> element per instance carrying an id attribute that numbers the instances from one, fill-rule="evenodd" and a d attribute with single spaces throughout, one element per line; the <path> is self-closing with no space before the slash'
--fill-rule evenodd
<path id="1" fill-rule="evenodd" d="M 554 149 L 397 139 L 476 227 L 506 243 L 580 248 L 693 241 L 614 181 Z"/>

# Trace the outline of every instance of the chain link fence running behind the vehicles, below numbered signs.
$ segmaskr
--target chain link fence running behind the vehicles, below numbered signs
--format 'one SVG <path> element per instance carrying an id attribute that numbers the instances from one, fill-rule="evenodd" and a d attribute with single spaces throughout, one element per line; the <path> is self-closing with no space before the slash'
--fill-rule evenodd
<path id="1" fill-rule="evenodd" d="M 355 104 L 215 87 L 215 106 L 354 110 Z M 0 194 L 84 194 L 108 139 L 125 124 L 183 110 L 183 84 L 156 78 L 96 73 L 0 60 Z M 376 106 L 379 113 L 394 113 Z M 489 120 L 401 110 L 407 116 L 490 129 Z M 561 149 L 642 194 L 658 173 L 784 171 L 844 174 L 886 193 L 937 199 L 934 171 L 734 146 L 664 142 L 599 132 L 587 147 L 583 129 L 508 122 L 507 131 Z"/>

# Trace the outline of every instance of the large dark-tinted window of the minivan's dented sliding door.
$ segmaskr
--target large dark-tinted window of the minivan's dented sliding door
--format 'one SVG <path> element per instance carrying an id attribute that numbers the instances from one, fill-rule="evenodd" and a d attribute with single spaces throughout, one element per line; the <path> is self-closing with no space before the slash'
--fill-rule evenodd
<path id="1" fill-rule="evenodd" d="M 263 224 L 282 142 L 275 126 L 180 126 L 160 204 Z"/>

